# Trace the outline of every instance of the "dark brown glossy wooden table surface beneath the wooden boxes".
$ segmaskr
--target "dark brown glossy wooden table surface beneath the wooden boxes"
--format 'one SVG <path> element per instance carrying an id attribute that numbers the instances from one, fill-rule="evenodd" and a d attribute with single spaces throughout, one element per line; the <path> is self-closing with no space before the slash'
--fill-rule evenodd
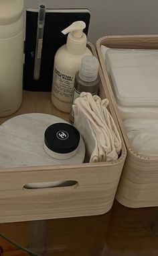
<path id="1" fill-rule="evenodd" d="M 102 216 L 48 220 L 47 252 L 52 256 L 156 256 L 158 236 L 151 224 L 158 207 L 129 209 L 114 201 Z M 0 224 L 0 233 L 28 247 L 30 222 Z M 29 255 L 0 238 L 4 256 Z M 1 254 L 0 254 L 1 255 Z"/>

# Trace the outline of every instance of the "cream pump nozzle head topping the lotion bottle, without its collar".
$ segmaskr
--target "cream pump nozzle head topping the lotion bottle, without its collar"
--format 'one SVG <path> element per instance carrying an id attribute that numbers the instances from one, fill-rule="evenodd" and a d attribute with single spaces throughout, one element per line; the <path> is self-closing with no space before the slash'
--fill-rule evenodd
<path id="1" fill-rule="evenodd" d="M 68 34 L 69 32 L 73 32 L 73 36 L 75 38 L 81 38 L 83 35 L 83 30 L 86 28 L 85 22 L 73 22 L 68 28 L 62 30 L 62 34 Z"/>

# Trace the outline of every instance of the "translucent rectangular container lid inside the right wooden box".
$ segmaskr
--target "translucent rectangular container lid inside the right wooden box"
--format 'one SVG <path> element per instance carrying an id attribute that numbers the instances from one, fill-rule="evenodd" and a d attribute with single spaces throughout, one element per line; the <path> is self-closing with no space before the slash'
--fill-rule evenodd
<path id="1" fill-rule="evenodd" d="M 106 66 L 121 106 L 158 106 L 158 50 L 109 49 Z"/>

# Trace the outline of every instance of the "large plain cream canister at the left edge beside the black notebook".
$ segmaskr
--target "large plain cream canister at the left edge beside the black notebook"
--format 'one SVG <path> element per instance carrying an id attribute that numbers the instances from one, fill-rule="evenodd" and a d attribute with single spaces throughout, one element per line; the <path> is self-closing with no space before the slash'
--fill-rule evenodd
<path id="1" fill-rule="evenodd" d="M 0 1 L 0 117 L 14 113 L 23 90 L 23 0 Z"/>

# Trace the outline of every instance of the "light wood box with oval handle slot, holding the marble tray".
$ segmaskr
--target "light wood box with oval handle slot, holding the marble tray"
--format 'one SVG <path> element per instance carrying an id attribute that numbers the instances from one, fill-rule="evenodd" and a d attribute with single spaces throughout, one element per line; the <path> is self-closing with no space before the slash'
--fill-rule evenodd
<path id="1" fill-rule="evenodd" d="M 94 46 L 88 46 L 96 55 Z M 105 98 L 101 69 L 100 79 L 100 97 Z M 111 102 L 109 109 L 118 127 Z M 68 114 L 54 108 L 49 92 L 23 92 L 21 108 L 11 117 L 23 113 L 47 113 L 66 121 L 69 119 Z M 1 118 L 0 123 L 11 117 Z M 114 162 L 0 168 L 0 222 L 90 216 L 108 212 L 112 207 L 125 157 L 123 143 L 121 156 Z M 77 181 L 78 186 L 23 189 L 27 183 L 48 181 Z"/>

